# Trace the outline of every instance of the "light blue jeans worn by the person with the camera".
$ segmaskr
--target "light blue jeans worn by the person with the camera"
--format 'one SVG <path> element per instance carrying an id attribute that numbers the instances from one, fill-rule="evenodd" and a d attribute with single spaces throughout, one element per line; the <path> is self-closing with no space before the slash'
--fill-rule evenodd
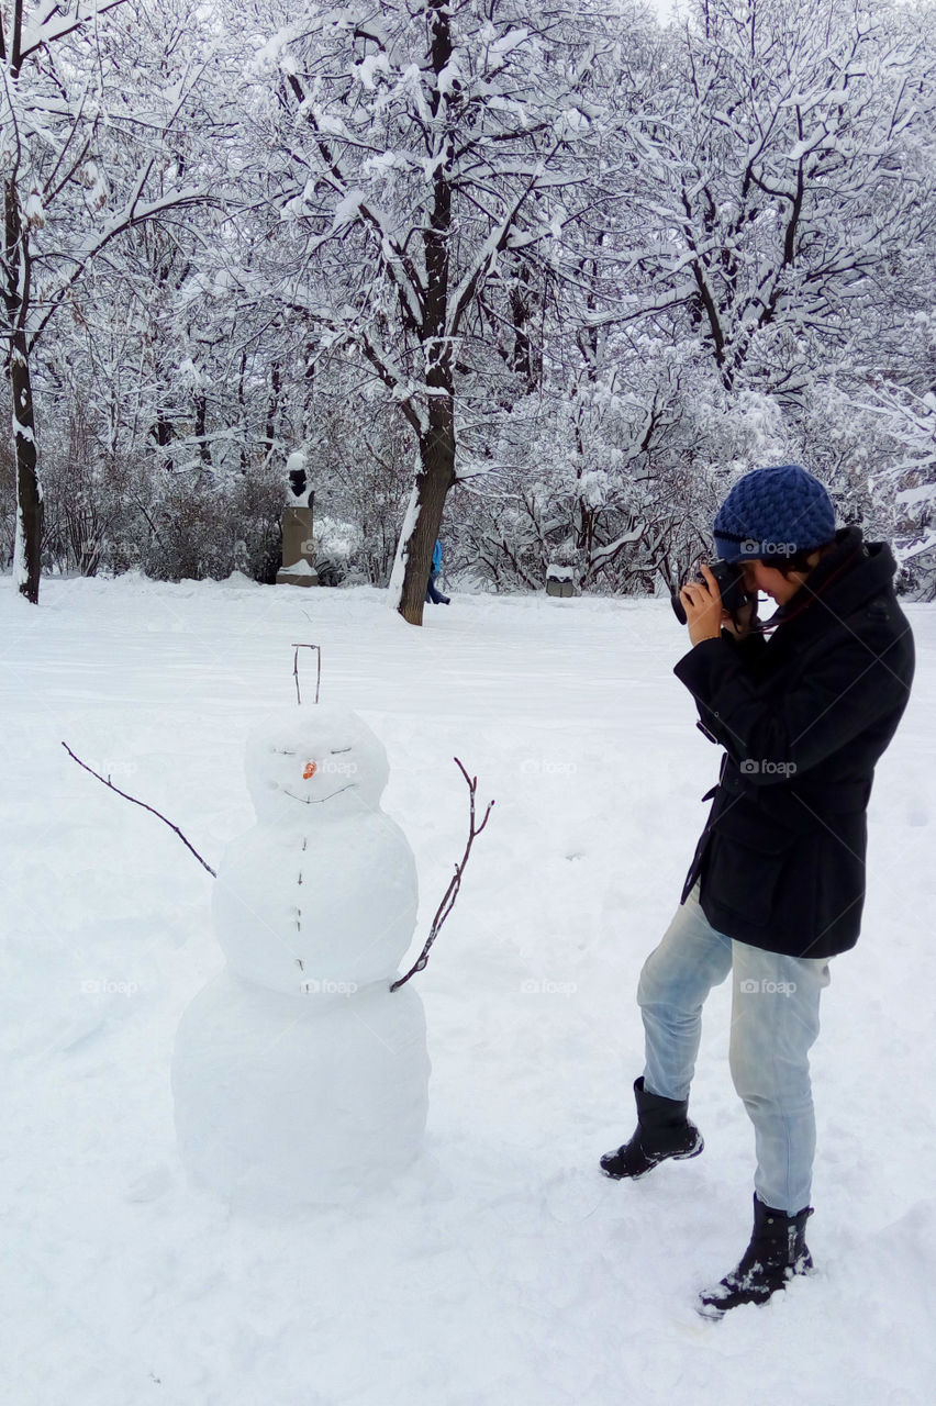
<path id="1" fill-rule="evenodd" d="M 703 1002 L 729 972 L 731 1077 L 755 1126 L 755 1191 L 765 1205 L 795 1215 L 808 1206 L 812 1182 L 810 1047 L 819 1033 L 819 995 L 829 984 L 825 957 L 787 957 L 715 932 L 696 883 L 641 972 L 644 1088 L 689 1098 Z"/>

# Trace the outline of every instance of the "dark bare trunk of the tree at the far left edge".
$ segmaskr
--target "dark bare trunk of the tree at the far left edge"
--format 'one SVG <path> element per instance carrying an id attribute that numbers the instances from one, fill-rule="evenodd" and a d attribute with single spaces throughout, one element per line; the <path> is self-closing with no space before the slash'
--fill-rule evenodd
<path id="1" fill-rule="evenodd" d="M 4 183 L 3 299 L 10 329 L 10 392 L 13 444 L 17 460 L 17 527 L 13 579 L 32 605 L 39 600 L 42 547 L 42 488 L 37 472 L 35 419 L 30 378 L 30 343 L 25 318 L 30 307 L 30 252 L 20 214 L 15 180 Z"/>

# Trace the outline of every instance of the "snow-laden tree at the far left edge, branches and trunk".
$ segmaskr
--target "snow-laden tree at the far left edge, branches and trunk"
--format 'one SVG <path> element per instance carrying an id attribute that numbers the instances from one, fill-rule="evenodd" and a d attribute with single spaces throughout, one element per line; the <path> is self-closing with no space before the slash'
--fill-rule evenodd
<path id="1" fill-rule="evenodd" d="M 39 595 L 42 489 L 32 361 L 91 262 L 202 197 L 173 134 L 207 62 L 194 24 L 125 0 L 0 7 L 0 336 L 17 461 L 14 583 Z"/>

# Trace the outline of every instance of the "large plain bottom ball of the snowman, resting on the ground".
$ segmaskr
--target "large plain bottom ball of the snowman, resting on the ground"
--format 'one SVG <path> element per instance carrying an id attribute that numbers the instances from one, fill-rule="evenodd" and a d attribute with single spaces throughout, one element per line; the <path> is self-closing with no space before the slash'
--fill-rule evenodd
<path id="1" fill-rule="evenodd" d="M 412 987 L 285 995 L 225 969 L 176 1035 L 178 1149 L 238 1206 L 347 1202 L 416 1157 L 429 1073 Z"/>

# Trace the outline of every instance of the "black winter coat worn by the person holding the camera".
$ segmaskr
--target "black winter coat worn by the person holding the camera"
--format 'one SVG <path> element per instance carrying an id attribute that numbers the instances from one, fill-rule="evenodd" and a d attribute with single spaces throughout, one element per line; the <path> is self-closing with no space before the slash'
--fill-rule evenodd
<path id="1" fill-rule="evenodd" d="M 906 707 L 914 637 L 887 543 L 842 527 L 762 634 L 701 640 L 673 672 L 725 748 L 686 876 L 717 932 L 828 957 L 857 942 L 874 765 Z"/>

